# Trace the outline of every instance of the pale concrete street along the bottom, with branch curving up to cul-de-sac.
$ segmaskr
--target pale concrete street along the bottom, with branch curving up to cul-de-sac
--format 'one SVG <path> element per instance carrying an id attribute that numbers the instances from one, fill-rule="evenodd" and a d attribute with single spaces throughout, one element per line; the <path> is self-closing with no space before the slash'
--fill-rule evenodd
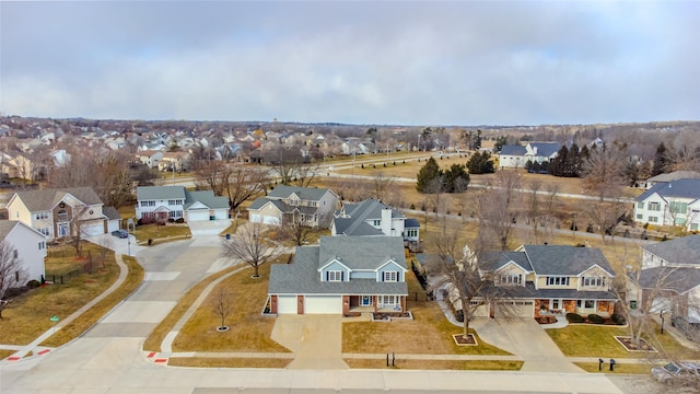
<path id="1" fill-rule="evenodd" d="M 139 250 L 143 283 L 83 336 L 44 356 L 0 363 L 0 393 L 621 393 L 604 375 L 588 373 L 159 364 L 141 350 L 144 338 L 192 285 L 229 265 L 219 257 L 218 231 L 192 233 L 191 240 Z"/>

